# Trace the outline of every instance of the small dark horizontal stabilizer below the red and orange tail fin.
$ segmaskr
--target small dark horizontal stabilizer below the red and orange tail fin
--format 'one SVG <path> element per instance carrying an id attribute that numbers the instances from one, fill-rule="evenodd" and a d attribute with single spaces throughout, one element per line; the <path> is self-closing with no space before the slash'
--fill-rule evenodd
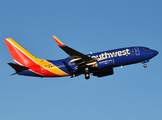
<path id="1" fill-rule="evenodd" d="M 15 69 L 16 73 L 13 73 L 12 75 L 15 75 L 17 74 L 18 72 L 22 72 L 22 71 L 25 71 L 25 70 L 28 70 L 30 68 L 28 67 L 24 67 L 22 65 L 18 65 L 18 64 L 15 64 L 15 63 L 8 63 L 13 69 Z"/>

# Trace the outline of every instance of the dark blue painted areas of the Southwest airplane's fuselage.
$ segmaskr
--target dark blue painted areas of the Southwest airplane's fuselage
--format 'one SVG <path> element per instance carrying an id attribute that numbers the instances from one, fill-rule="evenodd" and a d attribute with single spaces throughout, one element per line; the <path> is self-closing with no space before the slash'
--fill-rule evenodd
<path id="1" fill-rule="evenodd" d="M 108 64 L 105 64 L 105 67 L 113 68 L 118 66 L 124 66 L 134 63 L 139 63 L 143 61 L 149 61 L 149 59 L 153 58 L 158 54 L 157 51 L 152 49 L 146 49 L 146 47 L 126 47 L 120 49 L 114 49 L 109 51 L 98 52 L 94 54 L 88 54 L 97 61 L 107 61 Z M 77 65 L 74 62 L 71 62 L 72 59 L 70 57 L 61 59 L 61 60 L 47 60 L 51 62 L 53 65 L 57 66 L 60 70 L 72 75 L 72 74 L 84 74 L 84 70 L 78 70 Z M 109 66 L 111 64 L 111 66 Z M 99 68 L 90 68 L 90 72 L 93 73 Z M 31 71 L 30 71 L 31 72 Z M 25 71 L 26 74 L 30 76 L 30 72 Z M 35 73 L 32 73 L 31 76 L 37 76 Z M 38 75 L 40 77 L 40 75 Z"/>

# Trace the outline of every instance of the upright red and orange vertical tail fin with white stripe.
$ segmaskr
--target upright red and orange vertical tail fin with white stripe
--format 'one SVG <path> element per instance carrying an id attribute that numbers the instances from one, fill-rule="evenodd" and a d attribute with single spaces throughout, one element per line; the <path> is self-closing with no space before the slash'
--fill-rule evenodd
<path id="1" fill-rule="evenodd" d="M 37 61 L 37 58 L 29 53 L 27 50 L 25 50 L 12 38 L 6 38 L 5 42 L 15 62 L 25 67 L 35 65 L 35 61 Z"/>

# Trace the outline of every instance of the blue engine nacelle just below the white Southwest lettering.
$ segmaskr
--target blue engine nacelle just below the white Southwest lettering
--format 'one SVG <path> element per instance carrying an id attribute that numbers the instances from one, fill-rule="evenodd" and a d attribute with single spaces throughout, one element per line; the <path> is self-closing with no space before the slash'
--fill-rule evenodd
<path id="1" fill-rule="evenodd" d="M 111 67 L 113 65 L 114 65 L 114 59 L 111 58 L 111 59 L 97 61 L 97 63 L 94 65 L 94 67 L 101 69 L 104 67 Z"/>

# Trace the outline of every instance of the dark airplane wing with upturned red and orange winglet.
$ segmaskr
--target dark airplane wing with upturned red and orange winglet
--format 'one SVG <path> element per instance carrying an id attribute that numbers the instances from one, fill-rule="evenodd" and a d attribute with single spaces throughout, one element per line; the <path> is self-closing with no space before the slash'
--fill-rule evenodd
<path id="1" fill-rule="evenodd" d="M 85 64 L 85 65 L 93 65 L 93 63 L 96 63 L 96 59 L 91 58 L 81 52 L 78 52 L 66 45 L 64 45 L 56 36 L 53 36 L 56 43 L 59 45 L 59 47 L 64 50 L 70 57 L 71 62 L 75 62 L 75 64 Z"/>

